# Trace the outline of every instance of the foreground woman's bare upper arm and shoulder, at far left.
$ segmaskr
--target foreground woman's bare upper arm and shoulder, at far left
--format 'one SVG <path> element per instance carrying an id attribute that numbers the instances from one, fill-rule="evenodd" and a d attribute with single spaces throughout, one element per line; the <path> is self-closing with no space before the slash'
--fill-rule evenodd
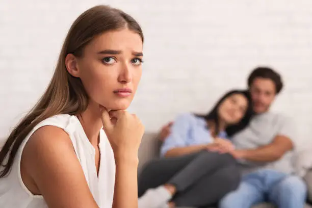
<path id="1" fill-rule="evenodd" d="M 36 194 L 49 208 L 98 208 L 71 140 L 61 128 L 43 126 L 31 136 L 22 152 L 21 174 L 34 181 Z"/>

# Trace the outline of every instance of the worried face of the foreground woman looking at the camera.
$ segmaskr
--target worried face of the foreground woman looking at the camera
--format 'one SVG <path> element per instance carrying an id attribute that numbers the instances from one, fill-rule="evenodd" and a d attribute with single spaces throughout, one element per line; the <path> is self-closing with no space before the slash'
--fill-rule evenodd
<path id="1" fill-rule="evenodd" d="M 109 110 L 125 110 L 137 91 L 142 74 L 141 37 L 128 29 L 94 38 L 76 59 L 78 77 L 91 101 Z"/>

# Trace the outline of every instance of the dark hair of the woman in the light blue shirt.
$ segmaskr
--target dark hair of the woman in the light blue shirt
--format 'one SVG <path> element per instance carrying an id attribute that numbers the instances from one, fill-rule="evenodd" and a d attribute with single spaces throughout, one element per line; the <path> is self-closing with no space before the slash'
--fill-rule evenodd
<path id="1" fill-rule="evenodd" d="M 215 135 L 218 135 L 220 133 L 220 126 L 219 126 L 219 115 L 218 115 L 218 109 L 221 103 L 229 96 L 233 94 L 242 94 L 244 95 L 248 100 L 248 107 L 246 110 L 245 115 L 243 118 L 239 121 L 237 124 L 232 124 L 226 127 L 225 131 L 228 136 L 232 136 L 233 134 L 236 134 L 237 132 L 244 129 L 253 114 L 252 112 L 252 100 L 251 96 L 248 90 L 230 90 L 227 93 L 225 93 L 216 103 L 214 108 L 207 114 L 201 115 L 201 114 L 195 114 L 198 117 L 204 118 L 206 121 L 212 121 L 215 124 Z"/>

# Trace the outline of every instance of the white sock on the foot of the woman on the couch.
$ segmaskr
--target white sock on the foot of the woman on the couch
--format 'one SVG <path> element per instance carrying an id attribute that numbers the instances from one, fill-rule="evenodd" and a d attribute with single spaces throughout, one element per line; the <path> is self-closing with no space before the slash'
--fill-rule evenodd
<path id="1" fill-rule="evenodd" d="M 172 195 L 164 187 L 148 189 L 143 196 L 139 198 L 139 208 L 158 208 L 167 204 Z"/>

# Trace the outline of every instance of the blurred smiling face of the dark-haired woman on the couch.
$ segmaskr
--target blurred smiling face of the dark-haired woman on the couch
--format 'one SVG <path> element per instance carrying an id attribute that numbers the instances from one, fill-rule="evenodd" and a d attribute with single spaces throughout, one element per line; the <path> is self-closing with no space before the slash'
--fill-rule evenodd
<path id="1" fill-rule="evenodd" d="M 232 94 L 221 102 L 218 108 L 219 118 L 227 124 L 238 123 L 245 115 L 248 106 L 247 98 L 240 94 Z"/>

